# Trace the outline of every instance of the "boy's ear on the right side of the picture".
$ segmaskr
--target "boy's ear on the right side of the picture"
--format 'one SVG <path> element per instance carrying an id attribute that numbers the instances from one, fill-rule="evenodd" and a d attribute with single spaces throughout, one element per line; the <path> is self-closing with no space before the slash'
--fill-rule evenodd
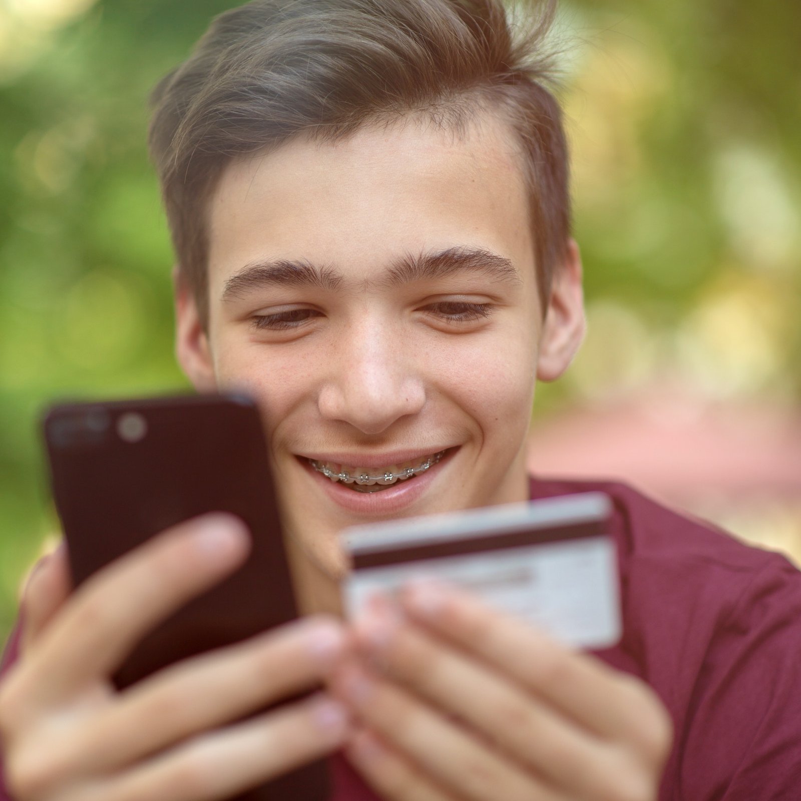
<path id="1" fill-rule="evenodd" d="M 575 239 L 570 239 L 565 261 L 553 275 L 537 359 L 539 380 L 553 381 L 566 371 L 585 330 L 582 256 Z"/>

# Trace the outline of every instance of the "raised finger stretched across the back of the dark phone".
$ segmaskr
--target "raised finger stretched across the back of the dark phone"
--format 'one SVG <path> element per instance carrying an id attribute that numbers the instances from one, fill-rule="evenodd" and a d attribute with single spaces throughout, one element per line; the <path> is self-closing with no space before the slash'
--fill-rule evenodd
<path id="1" fill-rule="evenodd" d="M 78 587 L 30 653 L 30 714 L 106 680 L 167 615 L 244 561 L 249 537 L 230 515 L 207 515 L 154 537 Z M 58 670 L 53 666 L 58 665 Z"/>

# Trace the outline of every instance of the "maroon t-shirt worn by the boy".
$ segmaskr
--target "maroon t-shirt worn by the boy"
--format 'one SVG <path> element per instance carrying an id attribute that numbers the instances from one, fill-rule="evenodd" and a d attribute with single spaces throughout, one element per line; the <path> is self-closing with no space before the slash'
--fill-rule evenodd
<path id="1" fill-rule="evenodd" d="M 625 485 L 531 483 L 532 498 L 591 490 L 614 502 L 622 579 L 623 638 L 597 655 L 648 682 L 673 718 L 659 801 L 798 801 L 801 573 Z M 12 637 L 3 669 L 15 652 Z M 376 801 L 344 759 L 332 769 L 332 801 Z"/>

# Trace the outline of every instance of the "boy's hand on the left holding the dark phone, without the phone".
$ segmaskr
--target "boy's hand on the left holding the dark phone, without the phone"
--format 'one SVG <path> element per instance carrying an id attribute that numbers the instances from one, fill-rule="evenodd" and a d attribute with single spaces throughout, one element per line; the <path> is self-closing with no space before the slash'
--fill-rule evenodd
<path id="1" fill-rule="evenodd" d="M 23 599 L 22 656 L 0 686 L 15 801 L 227 799 L 338 747 L 347 720 L 321 696 L 217 728 L 320 682 L 341 647 L 331 620 L 286 624 L 123 693 L 111 682 L 143 633 L 230 575 L 249 547 L 234 518 L 201 517 L 71 595 L 65 554 L 45 562 Z"/>

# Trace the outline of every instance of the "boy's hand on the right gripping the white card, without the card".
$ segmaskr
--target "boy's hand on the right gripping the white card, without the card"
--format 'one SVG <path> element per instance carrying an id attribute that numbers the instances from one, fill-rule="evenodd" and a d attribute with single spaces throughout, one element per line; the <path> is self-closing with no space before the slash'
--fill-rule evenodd
<path id="1" fill-rule="evenodd" d="M 336 675 L 348 759 L 386 801 L 651 801 L 670 722 L 646 684 L 419 582 L 374 598 Z"/>

